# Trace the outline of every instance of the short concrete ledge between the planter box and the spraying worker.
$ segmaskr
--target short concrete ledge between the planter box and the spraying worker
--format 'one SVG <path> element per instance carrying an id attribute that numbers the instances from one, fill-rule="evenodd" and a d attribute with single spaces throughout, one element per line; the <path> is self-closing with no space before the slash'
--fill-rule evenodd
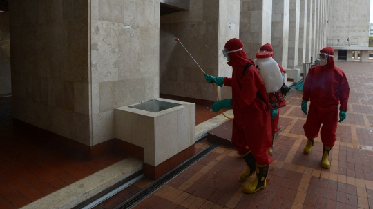
<path id="1" fill-rule="evenodd" d="M 233 110 L 228 110 L 224 112 L 224 114 L 228 117 L 234 117 Z M 216 117 L 213 117 L 212 119 L 209 119 L 207 121 L 204 121 L 203 123 L 198 124 L 197 126 L 195 126 L 195 139 L 202 137 L 202 135 L 207 134 L 209 130 L 216 128 L 220 126 L 222 123 L 225 123 L 229 120 L 230 119 L 227 119 L 226 117 L 224 117 L 224 115 L 220 114 Z"/>

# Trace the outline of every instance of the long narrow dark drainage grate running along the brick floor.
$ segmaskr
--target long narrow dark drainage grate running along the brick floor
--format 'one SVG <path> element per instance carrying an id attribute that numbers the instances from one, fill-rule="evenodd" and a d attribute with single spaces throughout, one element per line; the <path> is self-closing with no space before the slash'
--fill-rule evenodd
<path id="1" fill-rule="evenodd" d="M 200 160 L 202 157 L 209 154 L 209 152 L 211 152 L 218 146 L 219 146 L 218 143 L 213 143 L 207 148 L 204 148 L 204 150 L 202 150 L 200 153 L 198 153 L 197 155 L 194 155 L 193 157 L 191 157 L 191 159 L 185 161 L 180 166 L 174 168 L 173 170 L 168 172 L 163 177 L 160 177 L 160 179 L 157 179 L 156 181 L 151 183 L 151 185 L 147 186 L 146 188 L 138 192 L 135 196 L 131 197 L 130 199 L 127 199 L 126 201 L 124 201 L 124 203 L 122 203 L 120 206 L 117 206 L 117 208 L 115 209 L 127 209 L 127 208 L 131 208 L 135 206 L 137 203 L 142 201 L 142 199 L 145 199 L 146 197 L 151 195 L 153 192 L 155 192 L 155 190 L 159 189 L 161 186 L 163 186 L 164 184 L 169 182 L 171 179 L 179 175 L 182 171 L 189 168 L 189 166 L 193 165 L 196 161 Z"/>

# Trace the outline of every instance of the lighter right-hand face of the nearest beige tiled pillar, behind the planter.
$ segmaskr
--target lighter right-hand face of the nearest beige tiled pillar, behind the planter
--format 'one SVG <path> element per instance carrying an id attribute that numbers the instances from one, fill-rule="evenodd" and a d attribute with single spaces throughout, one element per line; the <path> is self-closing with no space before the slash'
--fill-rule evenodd
<path id="1" fill-rule="evenodd" d="M 95 145 L 114 138 L 115 108 L 159 97 L 160 3 L 93 0 L 90 8 Z"/>

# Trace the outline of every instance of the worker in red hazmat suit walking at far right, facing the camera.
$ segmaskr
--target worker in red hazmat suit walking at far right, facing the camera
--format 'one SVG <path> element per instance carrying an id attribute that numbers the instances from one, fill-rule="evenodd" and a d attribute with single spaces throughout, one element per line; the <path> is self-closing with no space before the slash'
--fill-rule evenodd
<path id="1" fill-rule="evenodd" d="M 303 149 L 309 154 L 314 146 L 314 138 L 320 130 L 321 142 L 323 142 L 323 157 L 321 166 L 330 168 L 329 152 L 336 141 L 336 129 L 338 122 L 341 123 L 347 115 L 347 102 L 350 87 L 345 73 L 334 65 L 334 50 L 325 47 L 320 50 L 320 66 L 309 69 L 305 84 L 303 86 L 302 111 L 307 115 L 303 126 L 308 138 Z M 307 112 L 307 101 L 311 101 Z M 323 124 L 323 126 L 321 126 Z"/>

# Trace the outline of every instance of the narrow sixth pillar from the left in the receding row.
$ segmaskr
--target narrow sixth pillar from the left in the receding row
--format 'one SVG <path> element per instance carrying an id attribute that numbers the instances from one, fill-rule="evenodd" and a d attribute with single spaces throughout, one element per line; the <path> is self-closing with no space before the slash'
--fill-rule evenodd
<path id="1" fill-rule="evenodd" d="M 303 66 L 305 63 L 306 45 L 307 45 L 307 1 L 300 0 L 300 17 L 299 17 L 299 54 L 298 66 Z"/>

